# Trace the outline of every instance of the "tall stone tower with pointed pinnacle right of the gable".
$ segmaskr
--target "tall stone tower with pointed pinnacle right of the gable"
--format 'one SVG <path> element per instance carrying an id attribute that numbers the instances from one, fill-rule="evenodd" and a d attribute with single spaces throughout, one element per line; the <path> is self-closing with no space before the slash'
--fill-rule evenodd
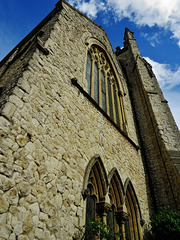
<path id="1" fill-rule="evenodd" d="M 127 50 L 120 54 L 118 59 L 124 66 L 126 65 L 156 207 L 170 205 L 178 209 L 180 206 L 180 175 L 177 168 L 178 162 L 180 164 L 179 131 L 151 66 L 142 59 L 130 31 L 126 32 L 126 44 Z M 172 153 L 175 154 L 176 162 L 171 157 Z"/>

